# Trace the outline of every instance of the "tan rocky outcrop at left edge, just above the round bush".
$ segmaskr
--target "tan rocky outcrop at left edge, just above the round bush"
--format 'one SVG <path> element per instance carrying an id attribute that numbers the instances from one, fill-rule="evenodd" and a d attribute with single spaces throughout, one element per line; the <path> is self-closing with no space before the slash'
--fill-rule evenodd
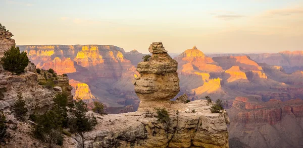
<path id="1" fill-rule="evenodd" d="M 16 45 L 12 36 L 11 32 L 0 29 L 0 58 L 4 56 L 5 51 Z"/>

